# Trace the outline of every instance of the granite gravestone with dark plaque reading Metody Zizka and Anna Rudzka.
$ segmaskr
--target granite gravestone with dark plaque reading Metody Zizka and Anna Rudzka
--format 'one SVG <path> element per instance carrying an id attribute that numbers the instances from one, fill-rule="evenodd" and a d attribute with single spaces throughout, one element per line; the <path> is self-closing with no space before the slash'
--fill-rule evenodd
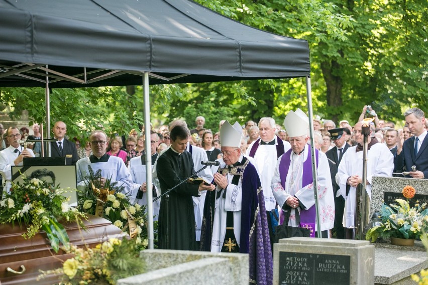
<path id="1" fill-rule="evenodd" d="M 368 241 L 293 237 L 274 245 L 274 285 L 373 284 Z"/>

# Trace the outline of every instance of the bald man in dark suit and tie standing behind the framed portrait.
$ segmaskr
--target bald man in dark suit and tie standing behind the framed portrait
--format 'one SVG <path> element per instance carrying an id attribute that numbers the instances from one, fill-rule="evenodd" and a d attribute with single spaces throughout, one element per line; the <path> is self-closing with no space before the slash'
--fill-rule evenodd
<path id="1" fill-rule="evenodd" d="M 77 155 L 76 145 L 66 139 L 64 135 L 67 133 L 67 125 L 62 121 L 57 121 L 53 127 L 54 137 L 58 138 L 58 141 L 51 141 L 51 157 L 65 157 L 66 165 L 75 165 L 79 160 Z"/>

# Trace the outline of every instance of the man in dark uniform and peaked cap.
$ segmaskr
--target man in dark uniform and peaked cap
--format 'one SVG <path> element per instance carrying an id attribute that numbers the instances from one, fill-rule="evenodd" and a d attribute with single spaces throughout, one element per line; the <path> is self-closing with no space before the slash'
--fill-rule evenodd
<path id="1" fill-rule="evenodd" d="M 351 134 L 351 132 L 347 128 L 329 129 L 329 132 L 331 134 L 331 139 L 333 140 L 333 143 L 336 145 L 336 147 L 327 151 L 326 156 L 328 159 L 336 163 L 337 167 L 330 169 L 330 171 L 332 172 L 335 171 L 334 174 L 332 173 L 332 176 L 336 177 L 336 174 L 338 173 L 339 164 L 342 160 L 342 156 L 349 148 L 349 145 L 346 143 L 346 136 L 344 135 L 344 132 L 346 132 L 347 134 Z M 336 231 L 337 238 L 344 239 L 345 228 L 343 227 L 342 221 L 343 221 L 343 212 L 345 209 L 345 199 L 342 197 L 342 195 L 338 194 L 338 190 L 339 190 L 339 186 L 337 186 L 336 184 L 336 188 L 333 189 L 334 195 L 335 195 L 335 211 L 336 211 L 335 225 L 333 227 L 333 231 Z"/>

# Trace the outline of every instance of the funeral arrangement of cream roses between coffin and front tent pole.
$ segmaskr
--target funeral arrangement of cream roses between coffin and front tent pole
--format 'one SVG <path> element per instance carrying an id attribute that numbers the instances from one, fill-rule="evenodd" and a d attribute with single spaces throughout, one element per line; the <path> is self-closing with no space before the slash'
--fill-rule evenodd
<path id="1" fill-rule="evenodd" d="M 88 166 L 88 173 L 84 193 L 78 198 L 79 210 L 108 219 L 135 239 L 137 244 L 146 247 L 148 231 L 145 207 L 132 205 L 122 193 L 124 187 L 118 186 L 116 181 L 112 182 L 111 178 L 106 179 L 101 187 L 101 170 L 94 173 Z"/>

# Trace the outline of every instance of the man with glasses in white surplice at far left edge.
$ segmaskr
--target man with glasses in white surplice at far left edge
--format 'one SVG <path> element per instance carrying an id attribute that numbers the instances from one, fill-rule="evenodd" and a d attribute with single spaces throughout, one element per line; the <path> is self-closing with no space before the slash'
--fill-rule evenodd
<path id="1" fill-rule="evenodd" d="M 0 173 L 3 176 L 3 189 L 9 193 L 12 183 L 11 167 L 15 165 L 22 165 L 24 158 L 34 157 L 34 153 L 24 149 L 20 144 L 21 133 L 15 126 L 11 126 L 6 131 L 6 139 L 10 146 L 9 148 L 0 152 Z"/>

